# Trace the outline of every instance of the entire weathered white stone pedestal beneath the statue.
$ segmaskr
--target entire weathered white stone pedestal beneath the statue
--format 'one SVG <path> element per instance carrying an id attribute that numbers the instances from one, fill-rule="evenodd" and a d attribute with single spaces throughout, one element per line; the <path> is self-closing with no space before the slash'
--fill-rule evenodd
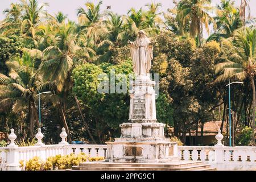
<path id="1" fill-rule="evenodd" d="M 120 138 L 107 143 L 107 160 L 131 163 L 177 160 L 177 142 L 165 138 L 165 125 L 156 122 L 155 82 L 148 76 L 139 76 L 130 84 L 130 122 L 120 125 Z"/>

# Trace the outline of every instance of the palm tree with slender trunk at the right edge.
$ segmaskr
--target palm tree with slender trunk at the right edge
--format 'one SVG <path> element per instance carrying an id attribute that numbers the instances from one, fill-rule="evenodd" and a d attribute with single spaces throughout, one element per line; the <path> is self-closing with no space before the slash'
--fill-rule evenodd
<path id="1" fill-rule="evenodd" d="M 234 50 L 234 54 L 230 56 L 230 60 L 216 65 L 216 73 L 220 74 L 216 81 L 224 81 L 228 78 L 237 80 L 245 80 L 249 78 L 251 88 L 253 90 L 253 128 L 252 142 L 255 144 L 255 84 L 254 75 L 256 68 L 256 30 L 245 28 L 238 30 L 234 34 L 233 40 L 224 40 L 224 46 L 228 46 Z"/>

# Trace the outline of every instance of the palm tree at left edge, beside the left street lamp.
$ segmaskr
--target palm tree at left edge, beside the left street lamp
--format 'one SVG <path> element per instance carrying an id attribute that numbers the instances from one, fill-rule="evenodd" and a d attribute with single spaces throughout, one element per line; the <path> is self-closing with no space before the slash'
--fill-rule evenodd
<path id="1" fill-rule="evenodd" d="M 38 74 L 34 68 L 34 59 L 28 52 L 23 51 L 23 56 L 6 62 L 10 69 L 9 77 L 0 74 L 0 105 L 12 106 L 15 113 L 28 110 L 28 123 L 30 138 L 34 137 L 35 121 L 39 127 L 36 101 L 36 78 Z"/>

